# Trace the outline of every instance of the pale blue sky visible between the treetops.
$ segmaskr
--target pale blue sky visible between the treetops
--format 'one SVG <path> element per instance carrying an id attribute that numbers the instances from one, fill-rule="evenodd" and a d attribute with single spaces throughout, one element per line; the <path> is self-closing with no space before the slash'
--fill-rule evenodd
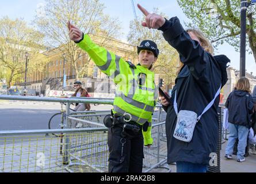
<path id="1" fill-rule="evenodd" d="M 160 11 L 167 14 L 169 17 L 177 16 L 181 20 L 188 22 L 185 14 L 178 6 L 176 0 L 133 0 L 135 3 L 137 16 L 142 16 L 142 13 L 137 9 L 136 4 L 144 6 L 148 11 L 154 7 L 158 7 Z M 129 22 L 133 20 L 133 10 L 130 0 L 101 0 L 105 4 L 105 13 L 113 18 L 119 18 L 121 22 L 121 36 L 122 40 L 126 40 L 129 32 Z M 156 3 L 157 2 L 157 3 Z M 9 16 L 10 18 L 24 18 L 24 20 L 31 22 L 36 15 L 36 9 L 39 3 L 44 3 L 43 0 L 10 0 L 1 1 L 0 17 Z M 254 5 L 256 6 L 256 5 Z M 239 7 L 238 7 L 239 8 Z M 240 55 L 235 52 L 235 49 L 228 44 L 220 45 L 215 54 L 225 54 L 231 59 L 231 66 L 239 70 Z M 256 64 L 253 55 L 246 55 L 246 69 L 247 72 L 253 72 L 256 75 Z"/>

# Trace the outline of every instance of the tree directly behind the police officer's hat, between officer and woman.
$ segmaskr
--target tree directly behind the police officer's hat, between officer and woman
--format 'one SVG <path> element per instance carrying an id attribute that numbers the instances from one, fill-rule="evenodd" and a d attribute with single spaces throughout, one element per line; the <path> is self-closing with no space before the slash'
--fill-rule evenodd
<path id="1" fill-rule="evenodd" d="M 154 12 L 157 13 L 157 9 Z M 163 17 L 165 15 L 161 14 Z M 142 22 L 144 18 L 139 18 Z M 178 53 L 173 47 L 163 38 L 162 32 L 156 29 L 143 28 L 140 23 L 135 20 L 130 22 L 130 31 L 127 40 L 132 45 L 139 45 L 143 40 L 152 40 L 158 45 L 159 56 L 153 66 L 155 74 L 160 74 L 161 78 L 165 79 L 165 84 L 168 85 L 174 81 L 176 75 L 176 66 L 178 63 Z"/>

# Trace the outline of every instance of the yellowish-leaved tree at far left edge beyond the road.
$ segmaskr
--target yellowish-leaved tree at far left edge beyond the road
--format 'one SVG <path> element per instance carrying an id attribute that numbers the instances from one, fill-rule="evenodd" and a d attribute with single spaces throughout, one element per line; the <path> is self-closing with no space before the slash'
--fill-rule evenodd
<path id="1" fill-rule="evenodd" d="M 44 49 L 41 43 L 43 35 L 27 26 L 25 21 L 8 17 L 0 20 L 0 64 L 9 87 L 13 82 L 21 82 L 21 75 L 25 73 L 25 52 L 30 55 L 29 68 L 47 62 L 40 53 Z"/>

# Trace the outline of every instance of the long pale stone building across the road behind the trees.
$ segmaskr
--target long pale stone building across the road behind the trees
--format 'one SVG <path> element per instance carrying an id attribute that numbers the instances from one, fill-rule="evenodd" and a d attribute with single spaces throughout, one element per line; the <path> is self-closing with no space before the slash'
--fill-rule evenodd
<path id="1" fill-rule="evenodd" d="M 95 43 L 100 44 L 97 39 L 93 37 L 92 39 Z M 137 64 L 137 48 L 135 46 L 116 39 L 111 39 L 108 43 L 104 44 L 103 47 L 123 57 L 125 60 L 130 60 L 132 63 Z M 45 93 L 47 87 L 50 90 L 63 90 L 63 69 L 64 74 L 66 74 L 66 87 L 64 87 L 64 91 L 74 91 L 73 83 L 77 79 L 82 82 L 82 86 L 89 93 L 114 94 L 115 85 L 112 80 L 98 69 L 84 51 L 78 56 L 77 70 L 81 71 L 85 65 L 87 70 L 83 72 L 83 76 L 80 78 L 76 77 L 77 72 L 69 62 L 65 61 L 64 63 L 62 53 L 58 53 L 54 49 L 45 52 L 45 55 L 48 56 L 50 62 L 46 64 L 44 71 L 34 71 L 32 74 L 27 75 L 26 89 L 35 90 L 36 95 L 48 95 Z M 90 62 L 88 62 L 89 60 Z M 16 85 L 24 86 L 24 83 L 17 83 Z"/>

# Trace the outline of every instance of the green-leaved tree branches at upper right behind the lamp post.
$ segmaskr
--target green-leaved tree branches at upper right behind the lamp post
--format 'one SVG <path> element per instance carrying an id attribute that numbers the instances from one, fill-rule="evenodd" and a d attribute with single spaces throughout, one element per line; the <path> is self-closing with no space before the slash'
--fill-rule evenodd
<path id="1" fill-rule="evenodd" d="M 177 1 L 192 23 L 212 41 L 213 46 L 227 42 L 236 51 L 240 48 L 240 0 L 181 0 Z M 256 9 L 247 10 L 247 45 L 256 62 Z"/>

